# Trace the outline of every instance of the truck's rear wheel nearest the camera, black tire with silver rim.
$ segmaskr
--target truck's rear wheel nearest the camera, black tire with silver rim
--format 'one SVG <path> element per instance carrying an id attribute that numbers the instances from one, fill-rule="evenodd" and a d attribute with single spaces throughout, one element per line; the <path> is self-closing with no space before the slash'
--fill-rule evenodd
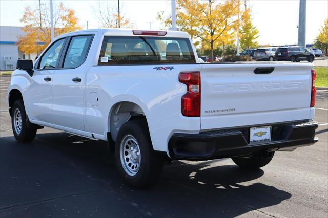
<path id="1" fill-rule="evenodd" d="M 134 141 L 131 136 L 137 142 L 137 149 L 133 148 L 134 144 L 133 146 L 131 146 L 131 143 L 130 145 L 125 144 L 127 139 Z M 126 145 L 131 147 L 128 149 Z M 124 148 L 129 150 L 128 154 Z M 135 150 L 137 152 L 134 152 Z M 133 156 L 132 152 L 134 152 Z M 137 163 L 132 163 L 135 166 L 133 169 L 131 168 L 133 165 L 128 166 L 126 162 L 135 160 L 135 154 L 138 153 L 139 159 Z M 157 156 L 153 150 L 148 125 L 144 119 L 130 120 L 121 126 L 115 144 L 115 158 L 119 173 L 129 185 L 137 188 L 146 188 L 153 185 L 159 178 L 163 167 L 163 159 Z M 136 170 L 137 167 L 139 168 L 136 172 L 132 171 Z M 133 175 L 133 173 L 135 174 Z"/>

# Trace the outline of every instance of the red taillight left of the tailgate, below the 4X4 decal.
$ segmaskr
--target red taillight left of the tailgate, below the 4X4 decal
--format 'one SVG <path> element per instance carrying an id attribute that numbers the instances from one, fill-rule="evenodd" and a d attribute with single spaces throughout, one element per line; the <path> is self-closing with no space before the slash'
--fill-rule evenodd
<path id="1" fill-rule="evenodd" d="M 179 81 L 187 85 L 187 93 L 181 98 L 182 115 L 200 117 L 200 73 L 182 72 Z"/>

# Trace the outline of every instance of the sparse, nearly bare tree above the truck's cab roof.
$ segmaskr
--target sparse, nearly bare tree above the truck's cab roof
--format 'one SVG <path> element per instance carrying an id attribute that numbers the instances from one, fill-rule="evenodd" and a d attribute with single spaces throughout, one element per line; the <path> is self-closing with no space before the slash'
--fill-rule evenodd
<path id="1" fill-rule="evenodd" d="M 93 10 L 102 27 L 129 28 L 133 26 L 130 19 L 122 15 L 122 6 L 119 11 L 116 1 L 98 1 L 97 7 Z"/>

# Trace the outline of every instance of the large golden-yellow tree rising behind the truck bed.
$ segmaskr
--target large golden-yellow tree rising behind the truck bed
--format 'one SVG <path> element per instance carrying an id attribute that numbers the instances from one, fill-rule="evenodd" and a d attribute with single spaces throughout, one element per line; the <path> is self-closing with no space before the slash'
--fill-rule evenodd
<path id="1" fill-rule="evenodd" d="M 214 56 L 214 48 L 224 45 L 226 41 L 235 38 L 238 20 L 239 1 L 226 0 L 177 0 L 176 23 L 181 31 L 188 32 L 192 37 L 207 43 Z M 158 19 L 170 26 L 170 17 L 163 13 L 158 14 Z"/>

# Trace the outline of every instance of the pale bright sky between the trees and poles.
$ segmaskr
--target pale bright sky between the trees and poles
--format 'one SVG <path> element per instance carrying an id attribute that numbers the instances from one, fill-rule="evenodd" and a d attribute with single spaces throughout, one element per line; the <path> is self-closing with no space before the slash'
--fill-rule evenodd
<path id="1" fill-rule="evenodd" d="M 54 0 L 54 4 L 59 2 L 75 10 L 80 25 L 84 28 L 87 27 L 87 21 L 89 29 L 100 27 L 92 9 L 96 7 L 97 2 Z M 117 5 L 117 0 L 110 2 Z M 298 0 L 247 0 L 247 4 L 252 9 L 253 23 L 259 30 L 259 43 L 274 45 L 297 43 Z M 38 0 L 0 0 L 0 25 L 24 26 L 19 19 L 22 18 L 26 6 L 38 8 Z M 139 29 L 149 29 L 148 22 L 154 22 L 152 29 L 159 29 L 162 25 L 156 20 L 157 13 L 160 11 L 171 13 L 171 1 L 168 0 L 120 0 L 120 6 L 122 13 Z M 306 1 L 306 43 L 313 43 L 326 18 L 328 18 L 328 0 Z"/>

